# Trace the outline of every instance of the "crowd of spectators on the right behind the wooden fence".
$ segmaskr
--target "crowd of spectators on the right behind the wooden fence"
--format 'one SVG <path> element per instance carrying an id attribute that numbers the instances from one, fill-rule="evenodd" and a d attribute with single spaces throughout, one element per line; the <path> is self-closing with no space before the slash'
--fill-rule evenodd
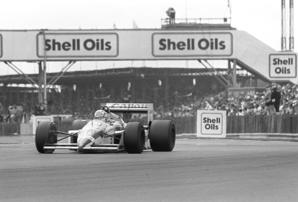
<path id="1" fill-rule="evenodd" d="M 298 85 L 278 85 L 278 90 L 282 96 L 279 106 L 280 114 L 297 115 Z M 260 103 L 264 94 L 265 91 L 242 93 L 237 97 L 228 96 L 227 91 L 204 97 L 191 94 L 187 97 L 181 97 L 180 104 L 170 108 L 167 112 L 162 106 L 158 107 L 155 113 L 157 117 L 187 117 L 196 116 L 196 110 L 226 110 L 228 116 L 266 115 L 264 112 L 265 103 Z M 275 110 L 273 106 L 271 107 L 271 110 Z"/>

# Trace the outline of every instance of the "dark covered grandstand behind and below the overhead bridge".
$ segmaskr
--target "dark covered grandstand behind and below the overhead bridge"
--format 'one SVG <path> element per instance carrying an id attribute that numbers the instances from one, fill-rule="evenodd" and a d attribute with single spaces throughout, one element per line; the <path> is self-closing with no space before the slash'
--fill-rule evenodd
<path id="1" fill-rule="evenodd" d="M 163 104 L 165 108 L 171 108 L 181 102 L 181 96 L 190 93 L 193 95 L 196 93 L 198 97 L 203 97 L 224 91 L 226 86 L 219 82 L 215 76 L 220 74 L 228 79 L 227 71 L 225 68 L 216 68 L 210 71 L 203 68 L 153 67 L 70 71 L 57 80 L 56 85 L 49 88 L 49 113 L 72 114 L 72 110 L 77 107 L 73 104 L 80 99 L 84 99 L 86 105 L 91 107 L 90 111 L 94 111 L 99 106 L 100 101 L 126 102 L 128 100 L 125 98 L 128 95 L 131 96 L 129 101 L 151 102 L 156 107 Z M 56 74 L 48 73 L 47 79 L 51 80 Z M 262 82 L 262 80 L 242 70 L 237 71 L 237 75 L 237 80 L 242 83 L 241 87 L 256 87 L 256 84 Z M 38 82 L 38 74 L 28 76 Z M 0 98 L 4 109 L 7 109 L 10 104 L 21 103 L 24 106 L 24 111 L 34 110 L 35 105 L 38 104 L 38 90 L 36 88 L 7 86 L 9 84 L 25 84 L 26 80 L 23 75 L 0 76 L 0 82 L 3 83 L 3 86 L 0 87 Z M 104 99 L 105 97 L 108 98 Z M 168 99 L 166 99 L 167 97 Z M 57 103 L 57 101 L 59 102 Z M 87 111 L 83 114 L 86 113 Z"/>

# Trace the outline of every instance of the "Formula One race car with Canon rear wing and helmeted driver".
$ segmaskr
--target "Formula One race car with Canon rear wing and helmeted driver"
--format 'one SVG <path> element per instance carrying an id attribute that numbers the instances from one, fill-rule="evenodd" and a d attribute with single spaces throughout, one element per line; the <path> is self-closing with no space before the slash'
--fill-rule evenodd
<path id="1" fill-rule="evenodd" d="M 147 114 L 147 126 L 141 122 L 124 122 L 115 113 Z M 58 140 L 58 134 L 67 135 Z M 57 143 L 68 138 L 68 143 Z M 78 152 L 142 153 L 144 149 L 172 151 L 175 146 L 175 125 L 171 120 L 153 121 L 153 104 L 106 103 L 94 119 L 74 120 L 68 133 L 57 131 L 54 122 L 40 122 L 36 128 L 35 145 L 40 153 L 55 149 Z"/>

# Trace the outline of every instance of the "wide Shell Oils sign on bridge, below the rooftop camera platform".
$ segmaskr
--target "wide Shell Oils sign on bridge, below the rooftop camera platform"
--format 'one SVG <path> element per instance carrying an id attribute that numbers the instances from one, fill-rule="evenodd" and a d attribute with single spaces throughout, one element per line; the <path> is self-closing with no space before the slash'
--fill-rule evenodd
<path id="1" fill-rule="evenodd" d="M 179 32 L 152 34 L 155 57 L 231 56 L 233 36 L 229 32 Z"/>

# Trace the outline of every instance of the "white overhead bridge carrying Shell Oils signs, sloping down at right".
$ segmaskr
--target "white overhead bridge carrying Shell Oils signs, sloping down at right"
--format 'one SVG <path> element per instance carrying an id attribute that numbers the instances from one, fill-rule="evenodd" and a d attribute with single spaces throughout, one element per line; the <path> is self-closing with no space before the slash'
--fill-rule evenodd
<path id="1" fill-rule="evenodd" d="M 297 53 L 276 51 L 239 30 L 0 30 L 0 61 L 37 62 L 44 58 L 47 61 L 236 59 L 238 65 L 266 80 L 296 82 L 297 76 Z"/>

